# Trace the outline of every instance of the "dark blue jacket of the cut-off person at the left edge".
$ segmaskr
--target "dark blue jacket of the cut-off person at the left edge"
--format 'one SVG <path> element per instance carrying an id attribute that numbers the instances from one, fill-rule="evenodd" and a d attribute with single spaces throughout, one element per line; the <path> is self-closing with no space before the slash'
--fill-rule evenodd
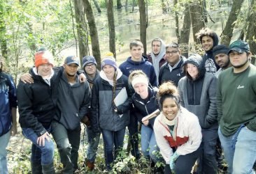
<path id="1" fill-rule="evenodd" d="M 13 78 L 0 72 L 0 136 L 6 134 L 12 124 L 11 108 L 17 107 L 16 87 Z"/>

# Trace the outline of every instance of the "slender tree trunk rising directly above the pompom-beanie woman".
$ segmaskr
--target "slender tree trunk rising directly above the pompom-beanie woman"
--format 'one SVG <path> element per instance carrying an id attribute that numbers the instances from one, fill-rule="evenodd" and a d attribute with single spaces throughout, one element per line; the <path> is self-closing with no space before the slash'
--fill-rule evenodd
<path id="1" fill-rule="evenodd" d="M 113 0 L 108 0 L 108 31 L 109 31 L 109 49 L 113 52 L 114 57 L 116 58 L 115 53 L 115 18 L 113 13 Z"/>

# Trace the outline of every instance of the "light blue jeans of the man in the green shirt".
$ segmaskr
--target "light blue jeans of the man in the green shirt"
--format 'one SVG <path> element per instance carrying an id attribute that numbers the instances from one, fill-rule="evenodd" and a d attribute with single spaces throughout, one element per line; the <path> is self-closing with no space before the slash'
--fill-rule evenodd
<path id="1" fill-rule="evenodd" d="M 255 173 L 253 164 L 256 161 L 256 132 L 244 125 L 232 136 L 224 136 L 219 128 L 218 134 L 227 160 L 229 173 Z"/>

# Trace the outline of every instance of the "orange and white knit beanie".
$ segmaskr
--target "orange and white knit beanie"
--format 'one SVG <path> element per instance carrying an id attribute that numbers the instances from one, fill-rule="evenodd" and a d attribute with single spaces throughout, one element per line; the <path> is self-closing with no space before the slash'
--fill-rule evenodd
<path id="1" fill-rule="evenodd" d="M 38 66 L 50 63 L 53 66 L 53 56 L 48 51 L 41 51 L 36 52 L 35 54 L 35 66 L 38 68 Z"/>

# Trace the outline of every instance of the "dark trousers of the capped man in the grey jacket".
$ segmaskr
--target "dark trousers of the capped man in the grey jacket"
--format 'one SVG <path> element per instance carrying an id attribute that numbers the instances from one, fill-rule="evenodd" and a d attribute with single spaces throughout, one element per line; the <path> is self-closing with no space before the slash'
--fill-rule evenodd
<path id="1" fill-rule="evenodd" d="M 78 169 L 78 150 L 80 145 L 80 125 L 74 130 L 66 129 L 61 123 L 52 121 L 52 136 L 63 164 L 63 173 L 73 173 Z"/>

